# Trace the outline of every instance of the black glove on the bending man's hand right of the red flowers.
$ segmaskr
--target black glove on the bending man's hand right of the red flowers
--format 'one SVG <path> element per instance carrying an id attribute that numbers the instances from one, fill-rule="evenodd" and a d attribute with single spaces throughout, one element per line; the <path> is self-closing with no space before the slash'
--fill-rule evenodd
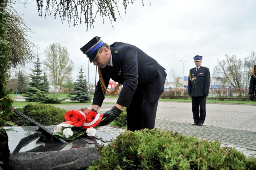
<path id="1" fill-rule="evenodd" d="M 122 113 L 122 111 L 121 111 L 120 109 L 118 109 L 116 106 L 112 107 L 111 110 L 106 111 L 105 113 L 103 113 L 103 118 L 105 118 L 105 119 L 100 122 L 99 127 L 110 124 L 110 123 L 111 123 L 112 121 L 114 121 L 114 120 L 116 119 L 116 117 L 118 117 L 121 113 Z"/>

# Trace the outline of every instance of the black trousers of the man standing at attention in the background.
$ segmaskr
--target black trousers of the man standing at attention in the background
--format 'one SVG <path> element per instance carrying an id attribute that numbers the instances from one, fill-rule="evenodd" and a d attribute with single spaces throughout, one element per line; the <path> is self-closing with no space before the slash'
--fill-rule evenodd
<path id="1" fill-rule="evenodd" d="M 206 96 L 191 97 L 194 123 L 204 123 L 206 116 Z"/>

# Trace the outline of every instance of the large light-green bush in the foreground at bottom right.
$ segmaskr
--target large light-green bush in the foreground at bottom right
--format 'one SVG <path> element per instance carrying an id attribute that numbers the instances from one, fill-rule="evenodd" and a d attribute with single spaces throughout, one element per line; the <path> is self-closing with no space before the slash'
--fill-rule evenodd
<path id="1" fill-rule="evenodd" d="M 126 131 L 108 146 L 98 147 L 100 159 L 88 170 L 102 169 L 256 169 L 256 158 L 246 158 L 234 148 L 166 130 Z"/>

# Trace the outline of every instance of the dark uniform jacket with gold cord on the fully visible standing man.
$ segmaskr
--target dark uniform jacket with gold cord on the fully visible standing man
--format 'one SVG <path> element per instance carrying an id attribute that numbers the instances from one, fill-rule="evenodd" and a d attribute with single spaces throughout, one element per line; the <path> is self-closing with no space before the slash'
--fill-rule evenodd
<path id="1" fill-rule="evenodd" d="M 192 81 L 191 79 L 194 77 L 196 79 Z M 210 77 L 210 71 L 207 67 L 201 66 L 198 71 L 196 71 L 196 67 L 190 69 L 188 75 L 188 93 L 193 97 L 204 96 L 204 93 L 209 93 Z"/>

